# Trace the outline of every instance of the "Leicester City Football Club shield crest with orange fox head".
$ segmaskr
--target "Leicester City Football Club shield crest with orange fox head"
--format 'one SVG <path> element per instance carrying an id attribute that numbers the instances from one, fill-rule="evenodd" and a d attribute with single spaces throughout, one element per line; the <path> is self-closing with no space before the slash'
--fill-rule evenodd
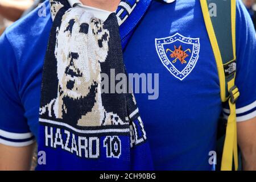
<path id="1" fill-rule="evenodd" d="M 155 47 L 164 67 L 179 80 L 184 80 L 199 59 L 200 39 L 176 33 L 167 38 L 155 39 Z"/>

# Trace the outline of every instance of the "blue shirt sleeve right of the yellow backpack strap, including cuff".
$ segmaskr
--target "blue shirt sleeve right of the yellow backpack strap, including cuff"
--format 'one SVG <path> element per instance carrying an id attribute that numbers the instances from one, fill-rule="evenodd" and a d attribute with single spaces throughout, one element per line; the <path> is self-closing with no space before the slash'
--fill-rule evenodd
<path id="1" fill-rule="evenodd" d="M 236 85 L 240 97 L 236 102 L 237 122 L 256 117 L 256 34 L 253 22 L 241 0 L 237 1 L 236 47 L 237 74 Z M 227 118 L 228 109 L 224 109 Z"/>

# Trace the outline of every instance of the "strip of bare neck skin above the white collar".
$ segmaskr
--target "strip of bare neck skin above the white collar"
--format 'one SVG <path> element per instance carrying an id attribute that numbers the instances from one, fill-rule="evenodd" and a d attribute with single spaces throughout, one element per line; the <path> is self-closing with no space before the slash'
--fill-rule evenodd
<path id="1" fill-rule="evenodd" d="M 115 11 L 120 0 L 80 0 L 83 5 L 96 7 L 98 9 Z"/>

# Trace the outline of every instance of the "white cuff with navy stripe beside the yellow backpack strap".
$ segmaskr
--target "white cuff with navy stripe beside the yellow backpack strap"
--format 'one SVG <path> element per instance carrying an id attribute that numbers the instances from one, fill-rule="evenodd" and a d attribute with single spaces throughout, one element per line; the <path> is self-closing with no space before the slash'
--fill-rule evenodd
<path id="1" fill-rule="evenodd" d="M 228 119 L 230 113 L 229 109 L 223 109 L 223 115 L 225 119 Z M 253 103 L 236 109 L 237 122 L 246 121 L 248 119 L 256 117 L 256 101 Z"/>

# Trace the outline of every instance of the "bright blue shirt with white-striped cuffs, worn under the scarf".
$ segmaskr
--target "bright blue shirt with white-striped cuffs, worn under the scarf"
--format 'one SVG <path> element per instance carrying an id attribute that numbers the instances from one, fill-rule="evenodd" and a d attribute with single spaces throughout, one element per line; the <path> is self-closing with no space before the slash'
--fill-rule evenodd
<path id="1" fill-rule="evenodd" d="M 33 136 L 38 137 L 43 61 L 52 26 L 49 3 L 44 4 L 46 17 L 39 17 L 39 9 L 35 9 L 7 28 L 0 38 L 0 143 L 10 146 L 26 146 L 34 141 Z M 237 1 L 236 31 L 236 85 L 241 93 L 237 121 L 242 122 L 256 116 L 256 38 L 241 1 Z M 172 75 L 156 51 L 155 39 L 173 35 L 200 42 L 196 64 L 183 80 Z M 177 47 L 180 44 L 175 43 Z M 155 169 L 212 169 L 209 152 L 216 150 L 222 103 L 200 2 L 152 1 L 123 57 L 129 73 L 159 73 L 157 100 L 148 100 L 148 94 L 135 94 Z M 228 110 L 224 109 L 224 113 Z"/>

